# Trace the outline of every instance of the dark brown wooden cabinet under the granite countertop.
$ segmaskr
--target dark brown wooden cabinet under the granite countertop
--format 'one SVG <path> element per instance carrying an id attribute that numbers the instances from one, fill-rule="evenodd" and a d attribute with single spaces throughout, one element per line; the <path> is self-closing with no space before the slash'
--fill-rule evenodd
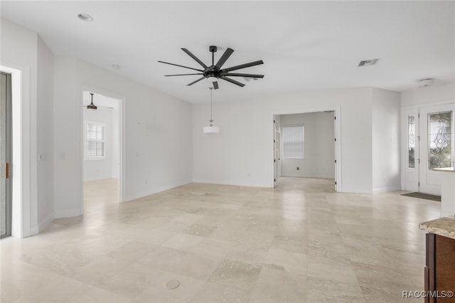
<path id="1" fill-rule="evenodd" d="M 427 233 L 426 242 L 424 289 L 429 295 L 425 303 L 455 303 L 455 297 L 446 296 L 455 292 L 455 240 Z"/>

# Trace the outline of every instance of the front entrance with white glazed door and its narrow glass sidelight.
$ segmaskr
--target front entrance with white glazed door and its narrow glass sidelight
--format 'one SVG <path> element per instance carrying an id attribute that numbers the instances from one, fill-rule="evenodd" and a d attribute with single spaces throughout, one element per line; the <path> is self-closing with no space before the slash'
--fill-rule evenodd
<path id="1" fill-rule="evenodd" d="M 441 195 L 440 172 L 455 161 L 455 104 L 409 108 L 403 111 L 403 189 Z"/>

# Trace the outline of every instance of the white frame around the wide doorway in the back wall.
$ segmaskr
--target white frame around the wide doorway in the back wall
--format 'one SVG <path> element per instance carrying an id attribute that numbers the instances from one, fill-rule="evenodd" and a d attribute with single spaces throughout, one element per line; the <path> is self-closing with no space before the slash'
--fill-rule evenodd
<path id="1" fill-rule="evenodd" d="M 294 115 L 294 114 L 308 114 L 311 112 L 334 112 L 334 125 L 336 127 L 336 132 L 335 132 L 335 157 L 336 162 L 335 162 L 335 181 L 336 181 L 336 191 L 341 193 L 343 192 L 343 186 L 342 186 L 342 180 L 341 180 L 341 163 L 342 163 L 342 154 L 341 154 L 341 107 L 326 107 L 326 108 L 318 108 L 314 110 L 309 110 L 309 109 L 304 109 L 304 110 L 288 110 L 288 111 L 283 111 L 283 112 L 273 112 L 272 115 L 270 115 L 270 121 L 271 121 L 271 129 L 272 132 L 269 132 L 269 142 L 271 142 L 272 147 L 269 148 L 270 151 L 270 156 L 269 156 L 269 163 L 271 164 L 271 172 L 270 172 L 270 187 L 274 188 L 274 175 L 275 175 L 275 166 L 274 166 L 274 117 L 277 115 Z M 335 140 L 335 138 L 333 138 Z"/>

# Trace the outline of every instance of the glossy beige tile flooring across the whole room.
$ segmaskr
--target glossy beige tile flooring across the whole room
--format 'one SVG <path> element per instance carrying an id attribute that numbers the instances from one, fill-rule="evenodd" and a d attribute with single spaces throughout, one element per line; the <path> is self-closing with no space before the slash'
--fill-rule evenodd
<path id="1" fill-rule="evenodd" d="M 123 204 L 115 180 L 85 186 L 84 216 L 1 240 L 1 302 L 422 302 L 402 291 L 423 290 L 418 224 L 439 202 L 335 193 L 327 179 Z"/>

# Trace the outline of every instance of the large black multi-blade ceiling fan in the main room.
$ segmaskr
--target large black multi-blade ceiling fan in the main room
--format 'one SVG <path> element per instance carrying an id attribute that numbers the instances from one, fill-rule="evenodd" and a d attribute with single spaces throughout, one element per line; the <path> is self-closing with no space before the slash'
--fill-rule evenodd
<path id="1" fill-rule="evenodd" d="M 225 62 L 230 57 L 230 55 L 232 55 L 232 53 L 234 52 L 234 50 L 232 48 L 226 49 L 225 53 L 223 53 L 221 58 L 218 59 L 218 62 L 215 64 L 215 52 L 217 50 L 217 47 L 210 46 L 208 48 L 210 53 L 212 53 L 212 65 L 210 65 L 210 66 L 205 65 L 201 60 L 199 60 L 198 57 L 196 57 L 196 55 L 193 55 L 193 53 L 191 53 L 191 51 L 187 50 L 186 48 L 182 48 L 182 50 L 185 53 L 187 53 L 191 58 L 193 58 L 197 63 L 199 63 L 199 65 L 203 67 L 203 70 L 198 69 L 198 68 L 189 68 L 188 66 L 178 65 L 178 64 L 174 64 L 174 63 L 168 63 L 168 62 L 164 62 L 164 61 L 158 61 L 158 62 L 169 64 L 169 65 L 179 66 L 181 68 L 188 68 L 190 70 L 197 70 L 198 72 L 200 72 L 200 73 L 192 73 L 192 74 L 165 75 L 166 77 L 181 76 L 181 75 L 202 75 L 202 77 L 198 78 L 198 80 L 193 81 L 192 83 L 189 83 L 187 86 L 193 85 L 194 83 L 198 83 L 200 80 L 207 78 L 212 81 L 213 88 L 215 88 L 215 90 L 217 90 L 219 88 L 218 79 L 222 79 L 222 80 L 228 81 L 230 83 L 233 83 L 235 85 L 239 85 L 240 87 L 244 87 L 245 84 L 240 83 L 237 80 L 231 79 L 229 77 L 264 78 L 264 75 L 230 73 L 230 72 L 232 72 L 232 70 L 240 70 L 242 68 L 250 68 L 251 66 L 264 64 L 264 62 L 262 60 L 257 60 L 254 62 L 240 64 L 240 65 L 235 65 L 235 66 L 232 66 L 231 68 L 221 69 L 223 67 L 223 65 L 225 64 Z"/>

